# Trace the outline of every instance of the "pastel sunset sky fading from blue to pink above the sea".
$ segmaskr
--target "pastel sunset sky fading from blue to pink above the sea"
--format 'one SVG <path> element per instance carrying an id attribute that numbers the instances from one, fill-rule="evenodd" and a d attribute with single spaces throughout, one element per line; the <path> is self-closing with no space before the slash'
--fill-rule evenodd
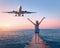
<path id="1" fill-rule="evenodd" d="M 24 11 L 37 13 L 26 14 L 24 17 L 2 13 L 18 11 L 19 5 Z M 40 21 L 43 17 L 46 18 L 40 24 L 40 28 L 60 28 L 60 0 L 0 0 L 0 30 L 34 29 L 34 25 L 27 18 L 35 23 L 36 20 Z"/>

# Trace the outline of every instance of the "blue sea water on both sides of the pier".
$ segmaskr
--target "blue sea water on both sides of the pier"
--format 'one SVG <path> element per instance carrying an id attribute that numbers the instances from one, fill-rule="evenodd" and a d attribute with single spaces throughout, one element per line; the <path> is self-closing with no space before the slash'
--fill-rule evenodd
<path id="1" fill-rule="evenodd" d="M 0 48 L 24 48 L 33 34 L 33 29 L 0 32 Z M 60 48 L 60 29 L 40 29 L 40 37 L 51 48 Z"/>

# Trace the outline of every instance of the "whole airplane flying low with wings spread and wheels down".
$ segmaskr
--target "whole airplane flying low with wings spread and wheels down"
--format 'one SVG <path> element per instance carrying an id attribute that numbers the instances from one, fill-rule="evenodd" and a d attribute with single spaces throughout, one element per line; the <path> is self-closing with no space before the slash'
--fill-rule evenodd
<path id="1" fill-rule="evenodd" d="M 11 13 L 15 14 L 15 16 L 24 16 L 24 14 L 31 14 L 31 13 L 36 13 L 36 12 L 29 12 L 29 11 L 22 11 L 22 6 L 19 7 L 18 11 L 8 11 L 8 12 L 3 12 L 3 13 Z"/>

